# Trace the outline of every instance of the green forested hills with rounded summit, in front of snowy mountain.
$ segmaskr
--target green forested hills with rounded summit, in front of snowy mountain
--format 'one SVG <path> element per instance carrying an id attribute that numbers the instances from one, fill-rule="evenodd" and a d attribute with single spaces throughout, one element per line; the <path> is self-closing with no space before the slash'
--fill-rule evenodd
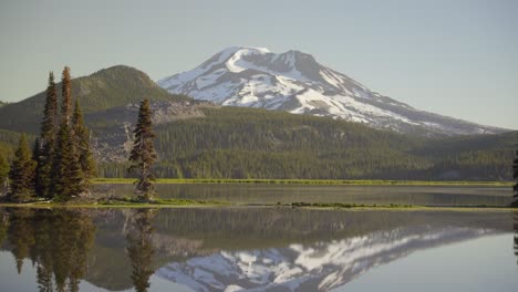
<path id="1" fill-rule="evenodd" d="M 419 137 L 341 118 L 218 106 L 172 95 L 132 67 L 72 80 L 101 177 L 124 177 L 138 101 L 151 97 L 158 177 L 510 180 L 518 132 Z M 34 139 L 44 93 L 0 108 L 0 150 Z"/>

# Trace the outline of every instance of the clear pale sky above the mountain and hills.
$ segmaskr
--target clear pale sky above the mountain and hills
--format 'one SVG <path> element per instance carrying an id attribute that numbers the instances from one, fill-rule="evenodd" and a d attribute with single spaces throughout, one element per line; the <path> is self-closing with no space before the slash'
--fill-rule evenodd
<path id="1" fill-rule="evenodd" d="M 153 80 L 232 45 L 290 49 L 416 108 L 518 129 L 515 0 L 0 0 L 0 100 L 126 64 Z"/>

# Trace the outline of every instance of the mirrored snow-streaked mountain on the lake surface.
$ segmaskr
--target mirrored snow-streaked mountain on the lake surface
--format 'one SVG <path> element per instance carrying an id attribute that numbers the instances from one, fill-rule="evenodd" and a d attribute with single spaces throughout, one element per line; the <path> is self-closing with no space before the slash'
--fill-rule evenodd
<path id="1" fill-rule="evenodd" d="M 156 274 L 194 291 L 333 291 L 414 251 L 495 233 L 463 227 L 403 228 L 309 246 L 218 251 L 170 262 Z"/>

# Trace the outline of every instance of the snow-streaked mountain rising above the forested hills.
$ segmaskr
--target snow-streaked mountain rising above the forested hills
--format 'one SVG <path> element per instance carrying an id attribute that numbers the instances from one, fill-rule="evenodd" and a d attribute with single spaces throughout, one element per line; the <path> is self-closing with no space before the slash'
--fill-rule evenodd
<path id="1" fill-rule="evenodd" d="M 505 129 L 416 109 L 373 92 L 299 51 L 222 50 L 196 69 L 159 80 L 170 93 L 219 105 L 331 116 L 421 135 L 495 134 Z"/>

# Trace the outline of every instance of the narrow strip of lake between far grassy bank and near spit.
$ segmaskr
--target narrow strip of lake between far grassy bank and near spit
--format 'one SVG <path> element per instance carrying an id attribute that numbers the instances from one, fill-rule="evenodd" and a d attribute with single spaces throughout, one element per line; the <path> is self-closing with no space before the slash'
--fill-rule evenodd
<path id="1" fill-rule="evenodd" d="M 132 196 L 133 185 L 96 185 L 103 194 Z M 255 184 L 156 185 L 160 198 L 234 204 L 343 202 L 418 206 L 508 206 L 510 187 L 488 186 L 315 186 Z"/>

